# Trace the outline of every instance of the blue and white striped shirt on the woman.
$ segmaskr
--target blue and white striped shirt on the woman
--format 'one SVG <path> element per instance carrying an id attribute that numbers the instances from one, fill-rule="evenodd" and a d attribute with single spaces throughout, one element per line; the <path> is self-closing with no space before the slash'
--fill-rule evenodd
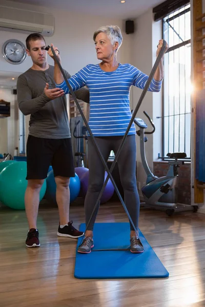
<path id="1" fill-rule="evenodd" d="M 99 64 L 88 64 L 68 79 L 73 91 L 88 86 L 90 91 L 89 126 L 94 136 L 124 136 L 131 119 L 130 87 L 144 89 L 148 76 L 130 64 L 120 64 L 113 72 L 101 70 Z M 148 91 L 159 92 L 162 81 L 152 80 Z M 56 84 L 69 93 L 64 81 Z M 136 134 L 134 123 L 129 134 Z"/>

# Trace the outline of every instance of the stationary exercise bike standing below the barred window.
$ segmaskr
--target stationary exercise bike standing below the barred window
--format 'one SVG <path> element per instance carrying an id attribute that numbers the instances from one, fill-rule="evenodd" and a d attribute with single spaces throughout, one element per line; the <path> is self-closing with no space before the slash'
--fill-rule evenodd
<path id="1" fill-rule="evenodd" d="M 169 170 L 166 176 L 158 178 L 151 172 L 145 155 L 145 142 L 148 141 L 145 135 L 153 134 L 155 131 L 155 126 L 152 119 L 145 111 L 144 114 L 147 116 L 153 127 L 152 131 L 145 131 L 148 126 L 144 120 L 141 118 L 134 119 L 134 123 L 139 127 L 139 130 L 137 130 L 136 133 L 140 137 L 141 162 L 147 174 L 146 185 L 141 189 L 145 201 L 145 203 L 142 205 L 145 207 L 166 210 L 166 213 L 169 216 L 171 216 L 174 212 L 196 212 L 198 210 L 198 206 L 179 204 L 177 202 L 178 159 L 186 158 L 187 155 L 185 152 L 173 152 L 167 154 L 167 156 L 170 159 L 174 159 L 174 161 L 169 161 Z"/>

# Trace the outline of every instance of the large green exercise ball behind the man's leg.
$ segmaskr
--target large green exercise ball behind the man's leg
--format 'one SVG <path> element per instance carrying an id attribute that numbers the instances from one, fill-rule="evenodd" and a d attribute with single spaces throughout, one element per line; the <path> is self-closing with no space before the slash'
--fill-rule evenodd
<path id="1" fill-rule="evenodd" d="M 21 161 L 12 163 L 4 168 L 0 173 L 0 195 L 1 201 L 6 206 L 24 210 L 24 196 L 27 188 L 27 162 Z M 46 181 L 40 190 L 40 201 L 46 192 Z"/>

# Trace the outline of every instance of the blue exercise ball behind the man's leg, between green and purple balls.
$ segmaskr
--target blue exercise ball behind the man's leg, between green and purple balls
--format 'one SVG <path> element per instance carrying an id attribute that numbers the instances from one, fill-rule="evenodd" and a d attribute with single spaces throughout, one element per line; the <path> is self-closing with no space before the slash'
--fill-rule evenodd
<path id="1" fill-rule="evenodd" d="M 56 204 L 56 183 L 55 183 L 53 170 L 51 170 L 48 173 L 46 182 L 47 182 L 47 189 L 46 189 L 45 198 L 49 202 Z M 70 203 L 72 203 L 77 198 L 80 191 L 80 180 L 76 173 L 75 177 L 70 178 L 69 188 L 70 188 Z"/>

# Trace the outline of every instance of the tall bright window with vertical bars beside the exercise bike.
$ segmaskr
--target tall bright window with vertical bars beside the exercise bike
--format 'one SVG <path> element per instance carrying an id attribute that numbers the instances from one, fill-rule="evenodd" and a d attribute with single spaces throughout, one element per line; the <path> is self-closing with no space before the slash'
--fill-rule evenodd
<path id="1" fill-rule="evenodd" d="M 191 157 L 191 16 L 190 5 L 163 18 L 165 54 L 163 82 L 163 158 L 184 151 Z"/>

